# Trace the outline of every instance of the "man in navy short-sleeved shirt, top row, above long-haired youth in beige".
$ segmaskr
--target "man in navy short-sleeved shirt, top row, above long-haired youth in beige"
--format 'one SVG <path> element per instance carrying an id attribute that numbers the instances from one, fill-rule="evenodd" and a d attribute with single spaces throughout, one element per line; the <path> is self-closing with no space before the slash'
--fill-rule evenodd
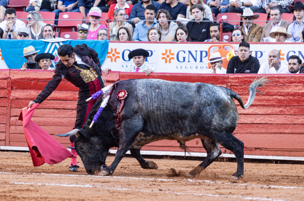
<path id="1" fill-rule="evenodd" d="M 161 4 L 159 9 L 167 10 L 172 20 L 176 20 L 178 17 L 185 18 L 187 11 L 185 4 L 178 2 L 178 0 L 166 0 L 166 2 Z"/>

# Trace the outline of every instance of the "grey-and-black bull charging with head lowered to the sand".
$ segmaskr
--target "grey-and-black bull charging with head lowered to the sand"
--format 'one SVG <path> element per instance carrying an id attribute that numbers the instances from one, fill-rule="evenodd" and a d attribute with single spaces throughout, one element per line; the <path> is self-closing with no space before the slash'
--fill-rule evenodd
<path id="1" fill-rule="evenodd" d="M 237 93 L 211 84 L 158 79 L 119 81 L 111 88 L 109 102 L 92 128 L 89 125 L 105 95 L 93 106 L 83 128 L 59 136 L 76 135 L 75 149 L 88 174 L 112 175 L 128 150 L 142 168 L 155 169 L 157 165 L 153 161 L 146 161 L 140 155 L 143 145 L 166 139 L 178 140 L 183 147 L 185 141 L 200 138 L 207 157 L 188 176 L 199 175 L 218 158 L 220 144 L 237 158 L 237 172 L 232 178 L 243 178 L 244 143 L 232 134 L 239 118 L 233 98 L 246 109 L 253 102 L 257 87 L 265 82 L 264 78 L 252 82 L 249 99 L 244 105 Z M 116 93 L 121 89 L 128 92 L 128 97 L 117 129 L 120 102 Z M 105 159 L 111 147 L 118 147 L 118 150 L 112 164 L 106 167 Z"/>

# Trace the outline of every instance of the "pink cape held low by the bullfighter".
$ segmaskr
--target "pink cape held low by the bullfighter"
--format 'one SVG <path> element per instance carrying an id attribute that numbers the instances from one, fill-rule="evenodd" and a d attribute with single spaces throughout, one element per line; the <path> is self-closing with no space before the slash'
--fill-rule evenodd
<path id="1" fill-rule="evenodd" d="M 21 110 L 19 120 L 23 123 L 23 130 L 26 137 L 26 142 L 29 147 L 33 165 L 39 166 L 43 163 L 50 165 L 60 163 L 66 158 L 74 158 L 71 151 L 68 151 L 57 140 L 55 140 L 49 133 L 43 130 L 35 122 L 31 120 L 32 115 L 39 106 L 39 103 Z"/>

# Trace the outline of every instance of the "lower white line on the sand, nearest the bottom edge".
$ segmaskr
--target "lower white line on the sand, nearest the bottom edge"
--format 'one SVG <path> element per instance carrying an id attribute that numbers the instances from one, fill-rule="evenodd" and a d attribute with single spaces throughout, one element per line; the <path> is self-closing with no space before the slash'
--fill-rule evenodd
<path id="1" fill-rule="evenodd" d="M 112 190 L 121 190 L 121 191 L 138 191 L 146 193 L 171 193 L 178 195 L 194 195 L 194 196 L 212 196 L 212 197 L 226 197 L 226 198 L 238 198 L 246 200 L 265 200 L 265 201 L 286 201 L 281 199 L 272 199 L 272 198 L 259 198 L 259 197 L 244 197 L 244 196 L 230 196 L 230 195 L 215 195 L 207 193 L 191 193 L 191 192 L 174 192 L 174 191 L 148 191 L 148 190 L 139 190 L 139 189 L 130 189 L 130 188 L 115 188 L 115 187 L 105 187 L 103 185 L 76 185 L 76 184 L 59 184 L 59 183 L 30 183 L 30 182 L 10 182 L 11 184 L 17 185 L 50 185 L 50 186 L 64 186 L 64 187 L 81 187 L 81 188 L 100 188 L 100 189 L 112 189 Z"/>

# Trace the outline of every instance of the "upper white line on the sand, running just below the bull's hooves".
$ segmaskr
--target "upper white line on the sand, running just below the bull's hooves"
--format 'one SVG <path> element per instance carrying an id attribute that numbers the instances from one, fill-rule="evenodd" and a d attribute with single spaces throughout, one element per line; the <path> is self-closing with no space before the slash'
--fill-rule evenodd
<path id="1" fill-rule="evenodd" d="M 53 175 L 53 176 L 71 176 L 71 177 L 105 177 L 105 178 L 122 178 L 122 179 L 142 179 L 150 181 L 178 181 L 177 179 L 160 179 L 160 178 L 144 178 L 144 177 L 122 177 L 122 176 L 98 176 L 98 175 L 67 175 L 67 174 L 50 174 L 50 173 L 28 173 L 28 172 L 0 172 L 0 174 L 28 174 L 28 175 Z M 304 189 L 303 187 L 297 186 L 277 186 L 277 185 L 259 185 L 259 184 L 248 184 L 248 183 L 232 183 L 232 182 L 212 182 L 210 180 L 193 180 L 193 179 L 180 179 L 181 181 L 188 182 L 205 182 L 212 184 L 233 184 L 233 185 L 248 185 L 257 187 L 271 187 L 271 188 L 282 188 L 282 189 Z"/>

